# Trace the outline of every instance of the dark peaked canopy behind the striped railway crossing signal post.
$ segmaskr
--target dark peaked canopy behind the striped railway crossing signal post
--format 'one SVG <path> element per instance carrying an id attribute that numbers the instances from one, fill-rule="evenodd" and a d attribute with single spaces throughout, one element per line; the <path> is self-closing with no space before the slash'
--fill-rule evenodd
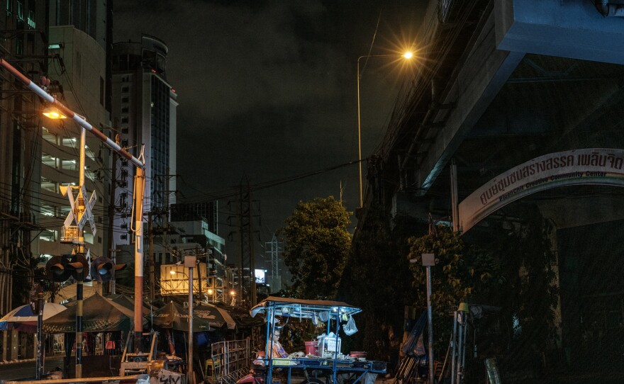
<path id="1" fill-rule="evenodd" d="M 46 333 L 76 331 L 77 305 L 50 317 L 43 322 Z M 121 304 L 108 300 L 99 293 L 82 302 L 82 330 L 84 332 L 129 331 L 134 324 L 134 312 Z"/>

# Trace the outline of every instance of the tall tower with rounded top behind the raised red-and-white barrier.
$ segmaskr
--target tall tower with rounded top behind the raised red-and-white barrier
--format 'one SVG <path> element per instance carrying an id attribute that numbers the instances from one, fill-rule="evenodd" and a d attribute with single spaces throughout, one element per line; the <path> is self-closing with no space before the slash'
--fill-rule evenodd
<path id="1" fill-rule="evenodd" d="M 112 48 L 113 125 L 121 147 L 145 159 L 144 211 L 162 225 L 174 196 L 176 173 L 177 95 L 167 82 L 167 45 L 143 35 L 140 43 L 115 43 Z M 143 151 L 143 153 L 141 153 Z M 113 244 L 130 244 L 133 176 L 126 160 L 116 166 L 116 215 Z"/>

